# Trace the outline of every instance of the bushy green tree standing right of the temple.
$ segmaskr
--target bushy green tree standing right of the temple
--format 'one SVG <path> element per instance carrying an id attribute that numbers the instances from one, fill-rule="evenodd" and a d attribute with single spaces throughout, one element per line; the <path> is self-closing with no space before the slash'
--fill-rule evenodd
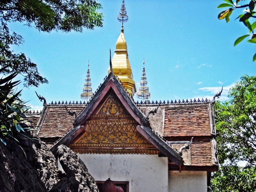
<path id="1" fill-rule="evenodd" d="M 220 170 L 214 191 L 256 191 L 256 76 L 244 75 L 214 105 Z M 246 163 L 245 167 L 239 164 Z"/>

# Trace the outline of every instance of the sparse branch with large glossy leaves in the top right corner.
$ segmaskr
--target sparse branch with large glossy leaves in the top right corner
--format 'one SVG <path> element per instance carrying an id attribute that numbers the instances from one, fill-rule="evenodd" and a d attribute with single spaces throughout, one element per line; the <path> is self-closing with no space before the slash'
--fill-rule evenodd
<path id="1" fill-rule="evenodd" d="M 239 15 L 236 19 L 239 19 L 239 22 L 243 22 L 243 24 L 248 28 L 249 34 L 242 35 L 237 38 L 234 42 L 234 46 L 244 40 L 246 37 L 250 37 L 247 42 L 256 43 L 256 33 L 254 29 L 256 28 L 256 21 L 254 16 L 255 12 L 255 4 L 256 0 L 242 0 L 246 1 L 243 5 L 239 5 L 240 0 L 223 0 L 226 3 L 221 3 L 217 8 L 230 7 L 218 15 L 219 19 L 226 19 L 226 22 L 229 22 L 229 16 L 236 9 L 243 9 L 244 14 Z M 256 53 L 253 56 L 253 61 L 256 60 Z"/>

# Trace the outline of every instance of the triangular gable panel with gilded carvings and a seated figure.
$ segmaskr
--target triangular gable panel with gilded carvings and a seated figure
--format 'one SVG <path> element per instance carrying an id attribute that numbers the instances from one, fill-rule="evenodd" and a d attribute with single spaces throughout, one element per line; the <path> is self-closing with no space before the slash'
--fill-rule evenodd
<path id="1" fill-rule="evenodd" d="M 110 89 L 86 120 L 85 133 L 69 144 L 78 153 L 143 153 L 159 150 L 136 130 L 138 122 Z"/>

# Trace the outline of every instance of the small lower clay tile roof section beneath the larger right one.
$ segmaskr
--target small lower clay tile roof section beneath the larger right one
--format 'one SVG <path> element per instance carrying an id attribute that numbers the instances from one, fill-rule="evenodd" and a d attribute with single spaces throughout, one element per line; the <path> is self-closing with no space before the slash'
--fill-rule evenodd
<path id="1" fill-rule="evenodd" d="M 210 141 L 204 142 L 204 143 L 192 143 L 190 150 L 191 150 L 191 165 L 196 165 L 196 166 L 213 165 Z"/>

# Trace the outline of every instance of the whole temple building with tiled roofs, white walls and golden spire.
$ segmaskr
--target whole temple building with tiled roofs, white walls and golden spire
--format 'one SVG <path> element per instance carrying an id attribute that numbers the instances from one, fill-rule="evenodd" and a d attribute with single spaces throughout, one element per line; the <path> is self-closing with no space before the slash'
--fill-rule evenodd
<path id="1" fill-rule="evenodd" d="M 218 170 L 214 100 L 134 101 L 122 7 L 108 75 L 90 100 L 45 104 L 29 119 L 53 153 L 64 144 L 78 154 L 100 191 L 111 178 L 125 192 L 206 192 Z"/>

